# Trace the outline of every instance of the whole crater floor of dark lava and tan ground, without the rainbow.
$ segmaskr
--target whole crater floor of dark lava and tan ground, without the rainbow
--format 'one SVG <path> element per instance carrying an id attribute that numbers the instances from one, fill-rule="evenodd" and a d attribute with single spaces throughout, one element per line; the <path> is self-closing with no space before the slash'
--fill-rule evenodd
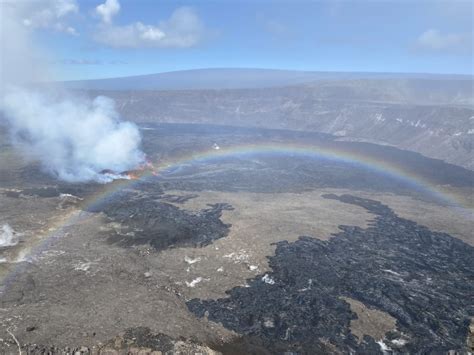
<path id="1" fill-rule="evenodd" d="M 18 243 L 0 250 L 1 351 L 469 350 L 472 172 L 319 134 L 143 128 L 152 161 L 181 163 L 133 182 L 61 183 L 2 148 L 0 224 Z M 180 158 L 260 142 L 350 145 L 465 207 L 344 161 Z"/>

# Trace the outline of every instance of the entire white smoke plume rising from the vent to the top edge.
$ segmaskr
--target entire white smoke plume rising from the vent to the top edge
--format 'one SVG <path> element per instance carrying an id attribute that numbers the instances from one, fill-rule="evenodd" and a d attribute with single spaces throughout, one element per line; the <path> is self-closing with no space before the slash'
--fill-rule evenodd
<path id="1" fill-rule="evenodd" d="M 53 91 L 27 84 L 44 80 L 48 73 L 42 64 L 46 61 L 38 59 L 43 54 L 31 40 L 33 29 L 24 26 L 29 3 L 2 3 L 0 11 L 0 116 L 13 143 L 41 161 L 45 170 L 71 182 L 106 182 L 114 175 L 101 171 L 136 167 L 144 160 L 139 130 L 120 121 L 111 99 L 91 100 L 57 87 Z"/>

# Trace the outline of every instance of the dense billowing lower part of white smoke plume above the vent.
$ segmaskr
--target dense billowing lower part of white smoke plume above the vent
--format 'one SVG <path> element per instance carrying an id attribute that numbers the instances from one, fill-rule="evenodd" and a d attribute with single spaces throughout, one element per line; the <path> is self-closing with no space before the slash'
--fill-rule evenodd
<path id="1" fill-rule="evenodd" d="M 101 180 L 102 170 L 121 172 L 143 161 L 137 127 L 120 122 L 106 97 L 90 101 L 12 89 L 3 110 L 14 143 L 60 179 Z"/>

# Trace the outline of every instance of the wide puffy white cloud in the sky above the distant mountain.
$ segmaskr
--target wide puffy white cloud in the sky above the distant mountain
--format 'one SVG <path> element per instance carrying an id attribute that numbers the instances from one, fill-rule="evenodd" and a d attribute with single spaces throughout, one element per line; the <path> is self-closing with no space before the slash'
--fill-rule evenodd
<path id="1" fill-rule="evenodd" d="M 204 24 L 190 7 L 176 9 L 157 25 L 135 22 L 125 26 L 102 25 L 94 39 L 111 47 L 187 48 L 204 36 Z"/>

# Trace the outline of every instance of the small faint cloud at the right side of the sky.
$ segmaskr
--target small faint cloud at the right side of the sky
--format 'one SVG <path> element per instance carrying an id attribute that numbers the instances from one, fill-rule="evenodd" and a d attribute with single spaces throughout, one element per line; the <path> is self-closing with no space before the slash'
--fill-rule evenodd
<path id="1" fill-rule="evenodd" d="M 436 29 L 429 29 L 423 32 L 417 40 L 420 48 L 443 51 L 443 50 L 463 50 L 472 48 L 469 43 L 469 36 L 465 33 L 441 33 Z"/>

